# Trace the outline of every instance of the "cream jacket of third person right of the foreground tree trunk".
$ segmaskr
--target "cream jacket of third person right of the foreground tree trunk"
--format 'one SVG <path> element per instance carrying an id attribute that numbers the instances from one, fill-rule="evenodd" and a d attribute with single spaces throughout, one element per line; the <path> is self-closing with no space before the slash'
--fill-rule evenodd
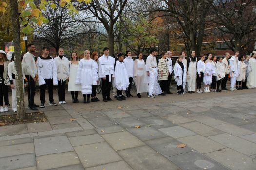
<path id="1" fill-rule="evenodd" d="M 58 56 L 54 59 L 56 69 L 57 69 L 57 78 L 60 80 L 67 80 L 69 77 L 69 61 L 66 57 L 62 57 L 62 59 Z"/>

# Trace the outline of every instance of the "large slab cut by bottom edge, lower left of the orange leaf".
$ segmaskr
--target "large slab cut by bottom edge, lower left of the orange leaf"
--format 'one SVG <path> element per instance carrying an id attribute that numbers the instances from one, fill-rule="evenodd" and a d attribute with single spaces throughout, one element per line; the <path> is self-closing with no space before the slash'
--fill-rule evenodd
<path id="1" fill-rule="evenodd" d="M 118 151 L 134 170 L 178 170 L 179 168 L 148 146 Z"/>

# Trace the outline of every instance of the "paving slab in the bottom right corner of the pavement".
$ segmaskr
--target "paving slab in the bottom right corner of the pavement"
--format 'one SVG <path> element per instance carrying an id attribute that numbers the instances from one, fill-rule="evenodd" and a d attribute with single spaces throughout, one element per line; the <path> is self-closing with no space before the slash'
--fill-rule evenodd
<path id="1" fill-rule="evenodd" d="M 205 155 L 231 170 L 254 170 L 256 168 L 256 161 L 253 162 L 250 156 L 246 156 L 230 148 L 206 153 Z"/>

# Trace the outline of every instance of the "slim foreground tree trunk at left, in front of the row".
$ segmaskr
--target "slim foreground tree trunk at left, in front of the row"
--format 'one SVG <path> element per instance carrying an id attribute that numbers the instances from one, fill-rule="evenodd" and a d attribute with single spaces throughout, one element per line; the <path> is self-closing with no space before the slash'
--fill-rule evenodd
<path id="1" fill-rule="evenodd" d="M 17 0 L 10 0 L 11 4 L 11 20 L 13 29 L 13 44 L 15 53 L 15 69 L 17 70 L 16 80 L 16 99 L 17 99 L 17 119 L 22 121 L 25 116 L 25 105 L 24 105 L 24 83 L 22 75 L 22 62 L 20 54 L 20 15 L 18 13 Z"/>

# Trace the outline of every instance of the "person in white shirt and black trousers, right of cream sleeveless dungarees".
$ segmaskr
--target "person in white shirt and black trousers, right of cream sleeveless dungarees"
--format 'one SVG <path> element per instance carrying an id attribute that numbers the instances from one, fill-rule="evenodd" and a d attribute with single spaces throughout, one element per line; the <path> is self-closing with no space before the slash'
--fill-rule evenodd
<path id="1" fill-rule="evenodd" d="M 201 84 L 203 81 L 205 64 L 204 64 L 205 57 L 203 55 L 200 56 L 200 60 L 197 62 L 197 93 L 203 93 L 201 90 Z"/>

